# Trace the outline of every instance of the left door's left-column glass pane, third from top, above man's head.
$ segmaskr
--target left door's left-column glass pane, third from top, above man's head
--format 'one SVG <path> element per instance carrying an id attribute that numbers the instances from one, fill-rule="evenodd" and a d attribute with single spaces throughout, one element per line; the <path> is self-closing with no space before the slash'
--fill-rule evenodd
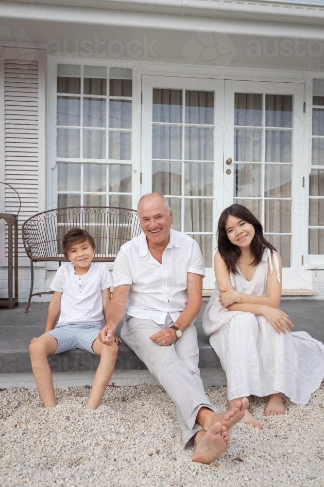
<path id="1" fill-rule="evenodd" d="M 153 161 L 152 191 L 181 195 L 181 162 Z"/>

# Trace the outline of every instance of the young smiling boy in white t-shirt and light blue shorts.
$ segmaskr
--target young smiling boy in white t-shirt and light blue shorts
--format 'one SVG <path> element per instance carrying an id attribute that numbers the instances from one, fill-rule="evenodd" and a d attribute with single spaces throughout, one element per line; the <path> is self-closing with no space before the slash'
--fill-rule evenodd
<path id="1" fill-rule="evenodd" d="M 75 228 L 66 233 L 63 252 L 70 262 L 58 268 L 51 283 L 54 295 L 45 333 L 31 340 L 29 351 L 34 377 L 45 408 L 56 406 L 48 355 L 74 348 L 100 355 L 87 409 L 98 407 L 114 370 L 121 341 L 115 336 L 112 345 L 107 346 L 98 339 L 113 282 L 104 263 L 91 262 L 95 248 L 92 236 L 85 230 Z"/>

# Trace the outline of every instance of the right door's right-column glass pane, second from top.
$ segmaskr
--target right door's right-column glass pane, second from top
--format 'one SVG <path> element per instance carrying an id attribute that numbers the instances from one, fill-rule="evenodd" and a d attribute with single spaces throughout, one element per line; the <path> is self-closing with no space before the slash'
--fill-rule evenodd
<path id="1" fill-rule="evenodd" d="M 266 162 L 291 162 L 292 131 L 266 130 Z"/>

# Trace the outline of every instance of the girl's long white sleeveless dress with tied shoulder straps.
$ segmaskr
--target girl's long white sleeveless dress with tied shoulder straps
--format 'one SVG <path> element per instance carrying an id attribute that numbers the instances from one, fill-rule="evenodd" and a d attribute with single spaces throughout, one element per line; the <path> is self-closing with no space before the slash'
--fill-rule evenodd
<path id="1" fill-rule="evenodd" d="M 266 296 L 268 261 L 273 273 L 270 250 L 266 248 L 251 281 L 246 281 L 239 268 L 237 274 L 231 272 L 235 290 Z M 275 253 L 273 261 L 280 282 Z M 324 378 L 323 343 L 307 332 L 278 335 L 261 315 L 223 308 L 218 295 L 216 283 L 203 316 L 203 330 L 210 335 L 210 344 L 226 372 L 228 400 L 281 392 L 292 402 L 307 404 Z"/>

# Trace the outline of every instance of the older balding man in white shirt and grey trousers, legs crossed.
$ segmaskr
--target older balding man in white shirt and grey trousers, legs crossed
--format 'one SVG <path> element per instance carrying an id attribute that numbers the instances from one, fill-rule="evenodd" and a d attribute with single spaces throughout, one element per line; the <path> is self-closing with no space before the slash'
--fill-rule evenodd
<path id="1" fill-rule="evenodd" d="M 199 245 L 171 230 L 172 212 L 162 194 L 143 196 L 138 215 L 142 233 L 122 245 L 116 258 L 114 293 L 99 338 L 111 344 L 124 318 L 121 338 L 176 405 L 184 446 L 194 447 L 192 460 L 211 463 L 227 450 L 229 429 L 243 418 L 248 400 L 220 413 L 205 395 L 193 324 L 205 275 Z"/>

